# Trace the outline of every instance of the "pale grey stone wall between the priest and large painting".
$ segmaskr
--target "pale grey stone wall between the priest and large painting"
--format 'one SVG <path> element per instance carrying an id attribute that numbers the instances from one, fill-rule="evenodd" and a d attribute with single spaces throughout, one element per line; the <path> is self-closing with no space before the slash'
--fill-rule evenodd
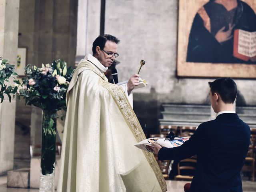
<path id="1" fill-rule="evenodd" d="M 119 82 L 138 72 L 141 59 L 146 61 L 140 76 L 148 86 L 134 91 L 134 111 L 142 127 L 150 126 L 146 130 L 157 126 L 162 103 L 210 105 L 208 81 L 213 78 L 176 77 L 178 0 L 108 0 L 105 33 L 121 40 L 116 67 Z M 237 105 L 255 106 L 256 81 L 235 81 Z"/>

